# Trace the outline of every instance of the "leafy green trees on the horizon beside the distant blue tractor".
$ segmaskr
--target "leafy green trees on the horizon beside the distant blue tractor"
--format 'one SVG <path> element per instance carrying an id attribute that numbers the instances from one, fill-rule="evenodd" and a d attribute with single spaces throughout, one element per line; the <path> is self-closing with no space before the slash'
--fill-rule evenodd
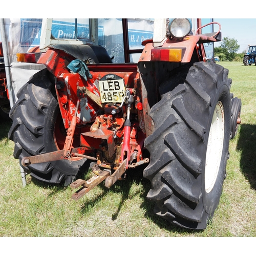
<path id="1" fill-rule="evenodd" d="M 237 39 L 224 37 L 221 46 L 214 48 L 214 55 L 218 56 L 221 61 L 243 61 L 246 52 L 237 53 L 239 48 Z"/>

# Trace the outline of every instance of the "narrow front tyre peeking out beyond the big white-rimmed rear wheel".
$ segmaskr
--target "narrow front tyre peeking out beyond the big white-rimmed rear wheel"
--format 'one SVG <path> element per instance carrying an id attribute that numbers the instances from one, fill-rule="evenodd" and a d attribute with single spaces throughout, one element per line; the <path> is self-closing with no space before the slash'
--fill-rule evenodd
<path id="1" fill-rule="evenodd" d="M 233 139 L 238 132 L 238 127 L 240 125 L 240 115 L 242 109 L 241 99 L 235 97 L 231 101 L 231 138 Z"/>

